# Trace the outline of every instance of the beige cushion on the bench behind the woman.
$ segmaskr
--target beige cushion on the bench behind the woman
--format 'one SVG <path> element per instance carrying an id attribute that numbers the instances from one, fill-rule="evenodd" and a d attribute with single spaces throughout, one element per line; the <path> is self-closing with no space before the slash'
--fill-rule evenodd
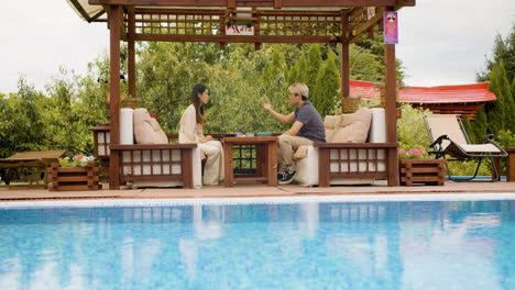
<path id="1" fill-rule="evenodd" d="M 168 137 L 144 108 L 134 110 L 134 140 L 136 144 L 168 144 Z"/>

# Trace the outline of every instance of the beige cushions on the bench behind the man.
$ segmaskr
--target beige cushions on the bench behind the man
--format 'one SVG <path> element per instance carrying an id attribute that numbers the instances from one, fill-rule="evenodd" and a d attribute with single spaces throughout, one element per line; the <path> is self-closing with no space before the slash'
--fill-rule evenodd
<path id="1" fill-rule="evenodd" d="M 352 114 L 341 114 L 339 122 L 336 119 L 329 121 L 329 124 L 339 126 L 335 130 L 326 129 L 326 140 L 328 143 L 364 143 L 371 122 L 372 112 L 368 108 L 360 108 Z"/>

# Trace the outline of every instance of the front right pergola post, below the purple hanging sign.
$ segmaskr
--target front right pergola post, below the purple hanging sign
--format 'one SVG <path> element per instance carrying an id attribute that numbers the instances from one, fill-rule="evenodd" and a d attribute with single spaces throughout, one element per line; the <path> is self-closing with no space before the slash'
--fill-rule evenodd
<path id="1" fill-rule="evenodd" d="M 393 11 L 394 8 L 387 8 Z M 397 143 L 397 100 L 395 78 L 395 44 L 384 45 L 386 64 L 386 142 Z M 388 187 L 398 186 L 397 147 L 388 148 Z"/>

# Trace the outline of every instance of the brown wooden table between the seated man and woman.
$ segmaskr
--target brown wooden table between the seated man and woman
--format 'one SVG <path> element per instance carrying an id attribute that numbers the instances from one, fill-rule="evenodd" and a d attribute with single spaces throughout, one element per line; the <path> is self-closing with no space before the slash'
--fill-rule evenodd
<path id="1" fill-rule="evenodd" d="M 235 181 L 262 181 L 277 186 L 277 137 L 227 137 L 223 138 L 224 186 L 232 187 Z M 233 147 L 255 146 L 255 175 L 234 176 Z"/>

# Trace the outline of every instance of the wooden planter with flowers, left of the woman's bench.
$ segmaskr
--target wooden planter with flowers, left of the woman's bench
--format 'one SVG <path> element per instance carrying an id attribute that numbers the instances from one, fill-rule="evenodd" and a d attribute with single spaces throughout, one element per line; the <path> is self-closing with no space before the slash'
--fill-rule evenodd
<path id="1" fill-rule="evenodd" d="M 81 154 L 61 158 L 47 168 L 48 190 L 98 190 L 100 165 L 92 156 Z"/>

